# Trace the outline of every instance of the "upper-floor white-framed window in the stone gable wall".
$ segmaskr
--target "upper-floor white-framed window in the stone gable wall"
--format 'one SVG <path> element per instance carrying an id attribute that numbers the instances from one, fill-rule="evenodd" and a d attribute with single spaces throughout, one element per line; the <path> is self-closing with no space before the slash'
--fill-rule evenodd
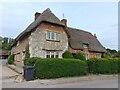
<path id="1" fill-rule="evenodd" d="M 61 40 L 60 39 L 61 37 L 61 34 L 58 33 L 58 32 L 53 32 L 53 31 L 47 31 L 47 34 L 46 34 L 46 39 L 48 40 Z"/>

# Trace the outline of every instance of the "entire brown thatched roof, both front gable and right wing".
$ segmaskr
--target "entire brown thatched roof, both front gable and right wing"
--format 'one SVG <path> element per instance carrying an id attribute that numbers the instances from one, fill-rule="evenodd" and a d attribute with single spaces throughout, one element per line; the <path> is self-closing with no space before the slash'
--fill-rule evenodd
<path id="1" fill-rule="evenodd" d="M 32 32 L 42 22 L 49 22 L 55 25 L 64 26 L 62 22 L 51 12 L 48 8 L 46 9 L 35 21 L 33 21 L 22 33 L 18 35 L 16 41 L 26 34 Z M 105 48 L 91 33 L 66 27 L 66 33 L 68 34 L 69 45 L 73 49 L 83 49 L 83 44 L 89 44 L 89 51 L 105 52 Z"/>

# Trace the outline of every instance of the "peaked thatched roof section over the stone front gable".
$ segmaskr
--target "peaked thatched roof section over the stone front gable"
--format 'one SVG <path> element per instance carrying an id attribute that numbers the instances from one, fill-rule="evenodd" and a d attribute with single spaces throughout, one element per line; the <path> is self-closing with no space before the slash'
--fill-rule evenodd
<path id="1" fill-rule="evenodd" d="M 43 11 L 42 14 L 35 21 L 33 21 L 22 33 L 20 33 L 16 40 L 20 39 L 26 33 L 31 32 L 34 28 L 40 25 L 41 22 L 49 22 L 52 24 L 64 26 L 64 24 L 48 8 Z"/>

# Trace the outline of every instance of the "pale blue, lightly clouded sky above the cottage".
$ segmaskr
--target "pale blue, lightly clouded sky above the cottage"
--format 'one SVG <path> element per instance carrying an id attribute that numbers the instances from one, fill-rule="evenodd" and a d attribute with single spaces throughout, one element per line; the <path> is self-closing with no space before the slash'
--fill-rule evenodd
<path id="1" fill-rule="evenodd" d="M 118 50 L 117 2 L 4 2 L 0 36 L 16 38 L 34 21 L 35 12 L 47 8 L 60 20 L 67 19 L 69 27 L 96 33 L 104 47 Z"/>

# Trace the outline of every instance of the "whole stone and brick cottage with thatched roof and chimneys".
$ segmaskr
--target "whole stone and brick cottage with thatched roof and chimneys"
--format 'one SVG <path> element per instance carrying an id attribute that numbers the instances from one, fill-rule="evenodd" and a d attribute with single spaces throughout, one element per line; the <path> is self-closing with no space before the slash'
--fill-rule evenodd
<path id="1" fill-rule="evenodd" d="M 35 20 L 15 39 L 12 47 L 15 61 L 23 63 L 25 47 L 29 44 L 30 57 L 62 58 L 69 50 L 73 55 L 80 51 L 86 58 L 101 58 L 105 48 L 91 33 L 70 28 L 67 20 L 59 20 L 48 8 L 35 13 Z"/>

